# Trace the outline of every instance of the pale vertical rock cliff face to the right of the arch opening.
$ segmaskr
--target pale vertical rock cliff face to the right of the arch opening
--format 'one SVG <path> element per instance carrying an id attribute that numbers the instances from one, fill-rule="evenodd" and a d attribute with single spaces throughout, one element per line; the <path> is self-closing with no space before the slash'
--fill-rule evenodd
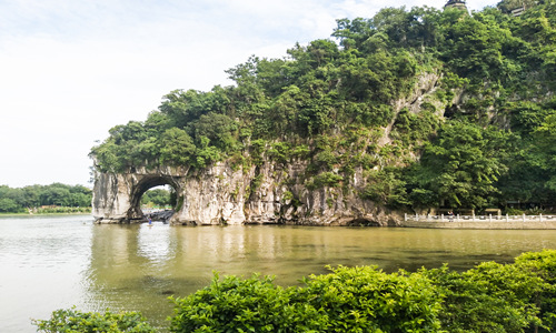
<path id="1" fill-rule="evenodd" d="M 183 205 L 172 218 L 182 224 L 285 223 L 348 225 L 396 223 L 356 191 L 339 188 L 308 190 L 306 162 L 279 165 L 269 161 L 234 171 L 226 163 L 196 174 L 183 183 Z M 363 185 L 354 176 L 355 186 Z M 360 178 L 363 179 L 363 176 Z"/>

